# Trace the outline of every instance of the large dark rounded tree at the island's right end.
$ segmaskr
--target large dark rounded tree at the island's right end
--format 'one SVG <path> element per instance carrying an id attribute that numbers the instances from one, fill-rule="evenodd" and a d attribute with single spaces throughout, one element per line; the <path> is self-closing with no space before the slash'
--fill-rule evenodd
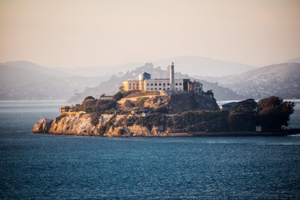
<path id="1" fill-rule="evenodd" d="M 278 96 L 270 96 L 258 101 L 259 122 L 264 130 L 280 130 L 289 124 L 295 103 L 283 101 Z"/>

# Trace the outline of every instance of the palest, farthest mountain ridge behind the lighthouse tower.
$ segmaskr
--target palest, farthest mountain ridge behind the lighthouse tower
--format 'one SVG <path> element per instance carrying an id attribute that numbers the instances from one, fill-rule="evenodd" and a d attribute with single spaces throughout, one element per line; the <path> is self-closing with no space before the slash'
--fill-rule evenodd
<path id="1" fill-rule="evenodd" d="M 160 66 L 166 70 L 171 62 L 175 62 L 175 70 L 191 76 L 227 76 L 230 74 L 242 73 L 248 70 L 256 69 L 256 66 L 250 66 L 242 63 L 220 61 L 201 56 L 177 56 L 167 59 L 147 61 L 153 63 L 154 67 Z M 125 63 L 118 66 L 98 66 L 98 67 L 74 67 L 74 68 L 53 68 L 59 71 L 65 71 L 73 76 L 104 76 L 106 74 L 126 73 L 143 66 L 146 62 Z"/>

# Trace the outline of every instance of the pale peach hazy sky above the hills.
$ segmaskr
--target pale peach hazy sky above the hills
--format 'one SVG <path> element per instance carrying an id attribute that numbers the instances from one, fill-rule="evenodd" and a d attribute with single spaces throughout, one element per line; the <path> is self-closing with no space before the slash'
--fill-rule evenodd
<path id="1" fill-rule="evenodd" d="M 300 56 L 300 1 L 0 0 L 0 62 L 99 66 L 183 55 Z"/>

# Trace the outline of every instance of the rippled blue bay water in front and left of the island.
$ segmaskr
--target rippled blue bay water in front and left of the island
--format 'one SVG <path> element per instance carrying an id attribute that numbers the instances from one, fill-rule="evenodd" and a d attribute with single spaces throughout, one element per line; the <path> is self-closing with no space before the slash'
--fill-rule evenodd
<path id="1" fill-rule="evenodd" d="M 300 198 L 300 135 L 32 134 L 33 124 L 58 116 L 61 104 L 0 101 L 0 199 Z"/>

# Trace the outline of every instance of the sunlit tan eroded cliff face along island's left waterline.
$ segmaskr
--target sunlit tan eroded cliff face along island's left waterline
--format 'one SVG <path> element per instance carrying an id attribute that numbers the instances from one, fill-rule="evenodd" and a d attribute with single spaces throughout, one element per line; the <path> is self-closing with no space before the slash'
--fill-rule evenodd
<path id="1" fill-rule="evenodd" d="M 137 124 L 131 124 L 127 126 L 125 123 L 129 117 L 131 116 L 117 115 L 113 120 L 113 124 L 116 125 L 116 127 L 111 127 L 103 136 L 159 137 L 159 136 L 163 136 L 166 133 L 166 131 L 163 131 L 162 127 L 153 126 L 151 127 L 151 130 L 149 130 L 147 127 L 140 126 Z M 32 132 L 92 136 L 92 135 L 99 135 L 98 129 L 101 126 L 100 124 L 101 124 L 101 117 L 99 117 L 99 123 L 95 126 L 91 124 L 91 117 L 88 114 L 64 115 L 59 117 L 58 120 L 39 120 L 39 122 L 34 125 Z M 102 126 L 105 125 L 106 125 L 105 123 L 102 124 Z"/>

